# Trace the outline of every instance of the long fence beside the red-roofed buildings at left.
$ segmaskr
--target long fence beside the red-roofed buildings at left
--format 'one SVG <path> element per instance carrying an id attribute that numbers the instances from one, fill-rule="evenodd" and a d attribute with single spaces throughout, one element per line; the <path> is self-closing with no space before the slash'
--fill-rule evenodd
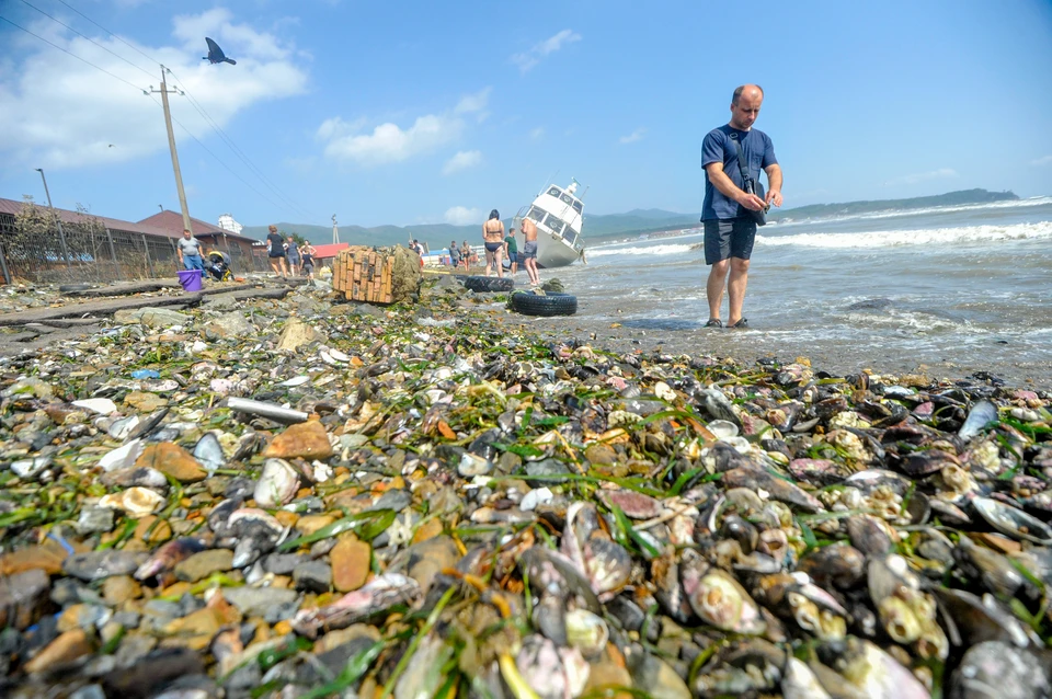
<path id="1" fill-rule="evenodd" d="M 107 228 L 102 220 L 82 215 L 64 220 L 43 207 L 18 217 L 0 214 L 0 272 L 5 283 L 25 279 L 37 284 L 114 282 L 171 277 L 179 267 L 173 238 Z M 206 250 L 230 259 L 235 274 L 263 272 L 266 259 L 225 237 Z"/>

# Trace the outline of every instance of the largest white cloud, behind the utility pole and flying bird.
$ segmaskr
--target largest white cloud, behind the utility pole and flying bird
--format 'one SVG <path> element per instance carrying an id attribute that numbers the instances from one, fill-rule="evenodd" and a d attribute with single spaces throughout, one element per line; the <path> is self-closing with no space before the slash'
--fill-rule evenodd
<path id="1" fill-rule="evenodd" d="M 176 45 L 172 46 L 148 46 L 124 37 L 169 67 L 178 77 L 168 77 L 169 87 L 185 89 L 220 128 L 259 102 L 301 93 L 307 85 L 307 72 L 291 60 L 294 46 L 248 24 L 232 24 L 230 19 L 226 10 L 178 16 L 173 20 Z M 160 98 L 140 92 L 160 85 L 156 65 L 108 35 L 92 38 L 142 71 L 54 23 L 27 28 L 121 80 L 28 35 L 15 36 L 5 53 L 19 58 L 9 58 L 0 70 L 0 160 L 13 167 L 79 168 L 168 150 Z M 202 61 L 205 35 L 219 42 L 237 67 Z M 173 117 L 207 142 L 211 127 L 188 99 L 172 94 L 170 101 Z M 179 125 L 175 137 L 187 139 Z"/>

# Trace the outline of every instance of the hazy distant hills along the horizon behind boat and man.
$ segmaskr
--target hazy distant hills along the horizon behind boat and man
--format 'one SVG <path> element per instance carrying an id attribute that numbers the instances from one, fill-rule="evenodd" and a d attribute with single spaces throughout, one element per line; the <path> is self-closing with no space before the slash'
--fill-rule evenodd
<path id="1" fill-rule="evenodd" d="M 988 192 L 986 190 L 963 190 L 949 192 L 937 196 L 919 196 L 910 199 L 874 199 L 866 202 L 847 202 L 844 204 L 811 204 L 792 209 L 771 211 L 774 221 L 791 218 L 821 218 L 830 216 L 849 216 L 851 214 L 868 214 L 872 211 L 902 210 L 928 208 L 935 206 L 960 206 L 962 204 L 987 204 L 991 202 L 1007 202 L 1018 199 L 1011 192 Z M 584 236 L 590 242 L 639 233 L 649 233 L 676 228 L 695 228 L 699 226 L 698 213 L 676 214 L 664 209 L 632 209 L 625 214 L 604 214 L 584 216 Z M 467 240 L 472 244 L 481 242 L 481 225 L 451 226 L 449 224 L 425 224 L 421 226 L 341 226 L 340 240 L 357 245 L 393 245 L 408 243 L 415 238 L 427 244 L 431 250 L 441 250 L 449 244 L 450 240 L 458 242 Z M 505 227 L 511 226 L 511 219 L 505 219 Z M 299 233 L 312 243 L 332 242 L 332 228 L 328 226 L 311 226 L 307 224 L 277 224 L 277 229 L 285 233 Z M 266 238 L 266 226 L 245 226 L 242 236 L 263 240 Z"/>

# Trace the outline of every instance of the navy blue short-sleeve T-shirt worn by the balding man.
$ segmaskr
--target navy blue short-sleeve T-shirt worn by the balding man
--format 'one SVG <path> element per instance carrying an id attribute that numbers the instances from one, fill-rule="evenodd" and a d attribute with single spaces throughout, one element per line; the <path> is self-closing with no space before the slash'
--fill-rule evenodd
<path id="1" fill-rule="evenodd" d="M 739 187 L 743 186 L 742 171 L 737 165 L 737 148 L 730 136 L 732 133 L 737 134 L 739 141 L 742 144 L 745 160 L 748 163 L 748 174 L 753 180 L 758 182 L 762 170 L 778 164 L 778 159 L 775 158 L 775 146 L 770 142 L 770 137 L 767 134 L 755 128 L 743 131 L 730 124 L 724 124 L 709 131 L 705 140 L 701 141 L 702 168 L 709 163 L 722 162 L 723 172 L 731 179 L 731 182 Z M 709 182 L 709 173 L 706 171 L 701 220 L 740 218 L 745 215 L 741 204 L 724 196 Z"/>

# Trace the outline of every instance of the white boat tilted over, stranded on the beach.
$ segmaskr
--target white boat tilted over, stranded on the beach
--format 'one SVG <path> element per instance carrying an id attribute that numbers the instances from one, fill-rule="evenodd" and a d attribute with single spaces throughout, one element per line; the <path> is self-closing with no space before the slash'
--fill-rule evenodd
<path id="1" fill-rule="evenodd" d="M 522 219 L 537 225 L 537 266 L 564 267 L 584 254 L 581 237 L 584 203 L 575 196 L 578 183 L 568 187 L 549 185 L 534 203 L 519 209 L 513 226 L 522 230 Z"/>

